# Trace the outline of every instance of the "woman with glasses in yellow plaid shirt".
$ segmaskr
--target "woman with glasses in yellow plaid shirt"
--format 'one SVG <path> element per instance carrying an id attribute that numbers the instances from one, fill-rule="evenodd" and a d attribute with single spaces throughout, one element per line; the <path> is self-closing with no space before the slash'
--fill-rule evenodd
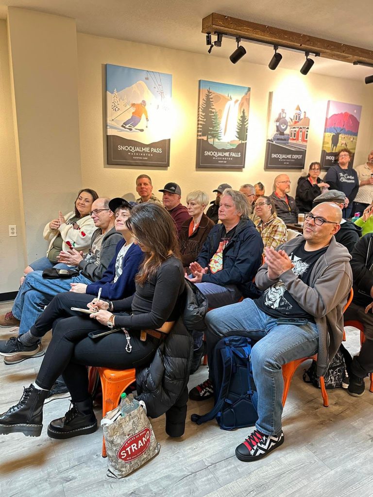
<path id="1" fill-rule="evenodd" d="M 270 197 L 263 195 L 255 201 L 254 224 L 263 240 L 264 248 L 276 248 L 287 239 L 285 223 L 276 214 L 276 208 Z M 264 254 L 264 252 L 263 252 Z"/>

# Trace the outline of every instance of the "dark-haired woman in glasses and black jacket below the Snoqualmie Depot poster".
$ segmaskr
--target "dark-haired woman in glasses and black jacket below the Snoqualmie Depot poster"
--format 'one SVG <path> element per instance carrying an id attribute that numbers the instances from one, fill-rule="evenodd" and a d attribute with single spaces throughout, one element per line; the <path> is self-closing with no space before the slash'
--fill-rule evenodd
<path id="1" fill-rule="evenodd" d="M 329 188 L 328 183 L 324 183 L 320 178 L 321 165 L 319 162 L 311 162 L 307 176 L 298 179 L 296 187 L 295 202 L 299 212 L 309 212 L 312 210 L 313 200 Z"/>

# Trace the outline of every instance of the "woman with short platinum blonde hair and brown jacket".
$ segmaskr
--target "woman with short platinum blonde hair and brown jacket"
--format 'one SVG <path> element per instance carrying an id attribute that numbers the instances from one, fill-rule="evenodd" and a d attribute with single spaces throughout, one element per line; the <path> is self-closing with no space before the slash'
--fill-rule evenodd
<path id="1" fill-rule="evenodd" d="M 204 213 L 208 196 L 204 191 L 195 190 L 187 195 L 188 218 L 182 225 L 180 246 L 184 269 L 189 272 L 189 264 L 194 262 L 211 228 L 215 226 Z"/>

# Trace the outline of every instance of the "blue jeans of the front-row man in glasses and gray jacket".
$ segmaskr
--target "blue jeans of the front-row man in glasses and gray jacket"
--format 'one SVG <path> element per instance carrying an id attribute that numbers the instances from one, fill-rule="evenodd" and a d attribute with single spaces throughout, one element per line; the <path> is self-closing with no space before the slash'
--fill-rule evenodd
<path id="1" fill-rule="evenodd" d="M 70 266 L 57 264 L 55 267 L 69 268 Z M 89 285 L 92 281 L 82 274 L 66 279 L 46 279 L 43 278 L 42 271 L 28 273 L 18 290 L 11 310 L 13 316 L 20 320 L 19 334 L 29 331 L 43 312 L 44 306 L 49 304 L 58 293 L 68 292 L 71 288 L 70 283 Z"/>

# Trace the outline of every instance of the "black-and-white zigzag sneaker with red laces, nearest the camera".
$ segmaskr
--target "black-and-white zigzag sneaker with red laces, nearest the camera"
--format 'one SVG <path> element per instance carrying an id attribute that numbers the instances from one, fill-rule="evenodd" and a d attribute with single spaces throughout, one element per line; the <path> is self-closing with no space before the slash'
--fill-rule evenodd
<path id="1" fill-rule="evenodd" d="M 276 447 L 280 447 L 283 440 L 282 430 L 280 435 L 265 435 L 259 430 L 254 430 L 244 442 L 238 445 L 236 457 L 245 462 L 257 461 L 276 449 Z"/>

